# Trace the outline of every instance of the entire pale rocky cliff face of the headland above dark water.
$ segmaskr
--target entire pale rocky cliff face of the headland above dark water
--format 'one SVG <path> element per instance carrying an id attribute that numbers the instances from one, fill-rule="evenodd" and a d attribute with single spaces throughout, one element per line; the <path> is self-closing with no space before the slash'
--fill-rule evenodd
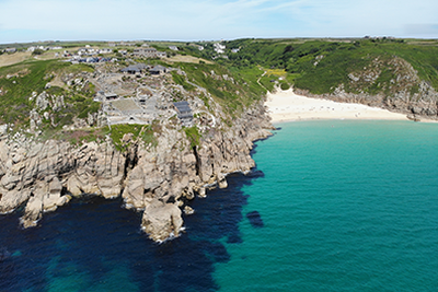
<path id="1" fill-rule="evenodd" d="M 124 153 L 112 141 L 72 147 L 68 142 L 36 142 L 25 136 L 0 137 L 0 212 L 25 206 L 24 227 L 44 212 L 55 211 L 71 196 L 122 196 L 126 208 L 143 211 L 142 227 L 154 241 L 177 236 L 182 208 L 206 186 L 227 187 L 226 175 L 247 172 L 253 141 L 270 135 L 262 104 L 246 110 L 231 128 L 211 128 L 192 145 L 181 127 L 163 125 L 158 144 L 132 141 Z M 68 194 L 68 195 L 67 195 Z M 70 196 L 71 195 L 71 196 Z"/>

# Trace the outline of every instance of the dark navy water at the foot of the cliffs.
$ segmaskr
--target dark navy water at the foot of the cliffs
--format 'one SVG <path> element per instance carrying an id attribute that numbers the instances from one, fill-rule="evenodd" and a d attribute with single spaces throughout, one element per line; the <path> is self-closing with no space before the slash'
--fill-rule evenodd
<path id="1" fill-rule="evenodd" d="M 215 262 L 230 259 L 221 240 L 242 242 L 238 225 L 247 197 L 241 188 L 261 176 L 228 176 L 227 189 L 191 202 L 196 213 L 184 218 L 187 233 L 161 245 L 120 199 L 88 196 L 27 230 L 20 212 L 0 215 L 0 246 L 20 255 L 0 262 L 0 291 L 216 291 Z"/>

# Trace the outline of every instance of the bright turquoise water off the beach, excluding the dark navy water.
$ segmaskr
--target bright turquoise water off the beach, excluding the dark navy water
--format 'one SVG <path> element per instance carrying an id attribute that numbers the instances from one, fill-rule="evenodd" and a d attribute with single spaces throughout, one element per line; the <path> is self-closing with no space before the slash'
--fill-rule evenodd
<path id="1" fill-rule="evenodd" d="M 257 142 L 220 291 L 437 291 L 438 125 L 300 121 Z"/>

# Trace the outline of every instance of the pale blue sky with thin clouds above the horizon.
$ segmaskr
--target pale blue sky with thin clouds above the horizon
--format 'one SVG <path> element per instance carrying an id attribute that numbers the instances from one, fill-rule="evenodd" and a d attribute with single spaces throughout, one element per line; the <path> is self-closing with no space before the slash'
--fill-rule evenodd
<path id="1" fill-rule="evenodd" d="M 0 44 L 438 38 L 437 0 L 0 0 Z"/>

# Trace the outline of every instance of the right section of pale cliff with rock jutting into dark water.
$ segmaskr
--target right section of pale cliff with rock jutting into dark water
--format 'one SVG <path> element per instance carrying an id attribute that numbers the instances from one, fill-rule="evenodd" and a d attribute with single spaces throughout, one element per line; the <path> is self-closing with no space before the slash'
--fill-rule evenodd
<path id="1" fill-rule="evenodd" d="M 227 187 L 227 174 L 254 167 L 253 141 L 270 135 L 264 110 L 249 110 L 229 131 L 211 130 L 198 147 L 191 148 L 183 132 L 165 127 L 157 148 L 138 147 L 122 196 L 128 208 L 145 209 L 142 226 L 152 240 L 178 234 L 181 211 L 174 207 L 182 207 L 183 198 L 205 196 L 206 185 Z"/>

